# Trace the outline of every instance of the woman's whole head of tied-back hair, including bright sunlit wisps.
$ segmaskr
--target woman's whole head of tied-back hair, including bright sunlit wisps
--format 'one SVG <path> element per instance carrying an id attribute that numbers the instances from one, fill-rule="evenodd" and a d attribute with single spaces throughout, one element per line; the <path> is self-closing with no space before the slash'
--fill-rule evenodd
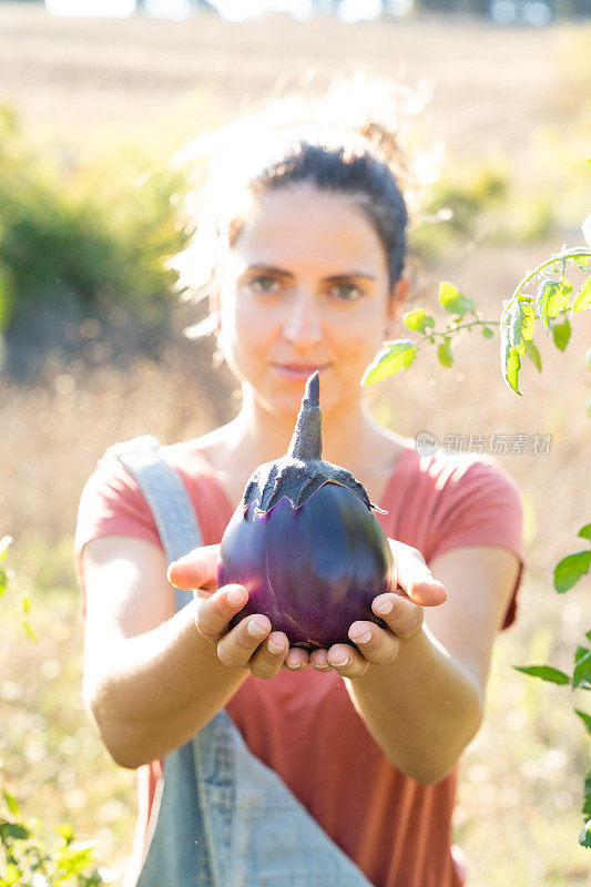
<path id="1" fill-rule="evenodd" d="M 424 91 L 425 92 L 425 91 Z M 215 286 L 223 253 L 247 224 L 252 201 L 269 190 L 312 185 L 349 195 L 383 244 L 390 290 L 406 259 L 409 216 L 418 207 L 416 160 L 401 150 L 405 119 L 428 101 L 395 81 L 335 77 L 317 99 L 273 98 L 232 123 L 205 130 L 173 157 L 186 167 L 188 191 L 177 201 L 187 242 L 167 267 L 185 302 Z M 211 333 L 212 318 L 186 335 Z"/>

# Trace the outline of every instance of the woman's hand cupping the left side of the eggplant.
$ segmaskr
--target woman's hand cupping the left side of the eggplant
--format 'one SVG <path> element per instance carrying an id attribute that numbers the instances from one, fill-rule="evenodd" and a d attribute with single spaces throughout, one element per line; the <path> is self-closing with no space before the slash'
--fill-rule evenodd
<path id="1" fill-rule="evenodd" d="M 248 669 L 255 677 L 274 677 L 284 666 L 302 671 L 308 664 L 307 652 L 289 648 L 287 636 L 272 631 L 266 615 L 245 616 L 230 629 L 231 620 L 248 600 L 248 592 L 243 585 L 216 588 L 218 549 L 220 546 L 194 549 L 169 567 L 169 581 L 195 594 L 200 634 L 216 648 L 224 665 Z"/>

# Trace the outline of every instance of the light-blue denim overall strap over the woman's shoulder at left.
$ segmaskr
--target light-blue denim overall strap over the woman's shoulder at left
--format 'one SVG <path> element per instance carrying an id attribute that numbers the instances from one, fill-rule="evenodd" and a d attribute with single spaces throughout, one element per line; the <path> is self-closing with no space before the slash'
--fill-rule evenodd
<path id="1" fill-rule="evenodd" d="M 153 435 L 142 435 L 109 447 L 103 459 L 116 457 L 133 475 L 154 516 L 169 563 L 203 544 L 188 493 L 181 478 L 160 453 Z M 193 599 L 176 589 L 176 610 Z"/>

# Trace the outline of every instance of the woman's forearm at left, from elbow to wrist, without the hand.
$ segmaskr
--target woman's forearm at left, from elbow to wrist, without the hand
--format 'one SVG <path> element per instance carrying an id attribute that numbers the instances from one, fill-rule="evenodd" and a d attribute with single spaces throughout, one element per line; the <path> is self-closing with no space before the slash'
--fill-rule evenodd
<path id="1" fill-rule="evenodd" d="M 246 669 L 224 665 L 198 633 L 192 602 L 105 651 L 93 672 L 86 667 L 84 701 L 112 757 L 137 767 L 190 740 L 247 675 Z"/>

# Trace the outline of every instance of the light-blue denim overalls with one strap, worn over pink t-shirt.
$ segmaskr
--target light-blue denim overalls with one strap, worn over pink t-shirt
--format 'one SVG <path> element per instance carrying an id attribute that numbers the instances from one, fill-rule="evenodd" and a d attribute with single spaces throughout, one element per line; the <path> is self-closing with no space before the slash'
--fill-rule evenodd
<path id="1" fill-rule="evenodd" d="M 153 512 L 170 561 L 203 544 L 193 506 L 150 436 L 110 447 Z M 175 590 L 176 610 L 193 600 Z M 371 887 L 221 710 L 164 762 L 137 887 Z M 343 810 L 346 816 L 347 812 Z"/>

